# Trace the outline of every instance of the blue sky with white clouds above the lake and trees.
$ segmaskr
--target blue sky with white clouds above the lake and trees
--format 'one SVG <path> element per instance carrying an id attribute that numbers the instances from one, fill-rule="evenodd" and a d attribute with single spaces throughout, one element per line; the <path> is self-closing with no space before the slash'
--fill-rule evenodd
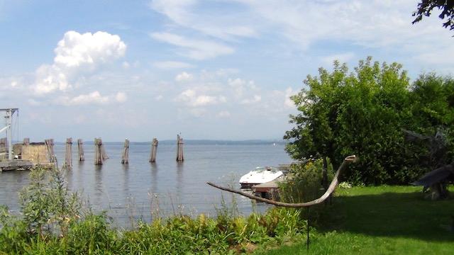
<path id="1" fill-rule="evenodd" d="M 453 32 L 411 25 L 417 2 L 0 0 L 0 108 L 32 142 L 279 140 L 333 60 L 453 74 Z"/>

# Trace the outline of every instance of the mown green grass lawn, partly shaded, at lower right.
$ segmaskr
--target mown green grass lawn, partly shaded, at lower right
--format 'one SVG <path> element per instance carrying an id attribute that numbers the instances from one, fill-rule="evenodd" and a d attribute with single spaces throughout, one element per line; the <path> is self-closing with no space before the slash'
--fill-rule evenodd
<path id="1" fill-rule="evenodd" d="M 265 254 L 454 254 L 454 199 L 424 200 L 421 188 L 338 189 L 306 242 Z"/>

